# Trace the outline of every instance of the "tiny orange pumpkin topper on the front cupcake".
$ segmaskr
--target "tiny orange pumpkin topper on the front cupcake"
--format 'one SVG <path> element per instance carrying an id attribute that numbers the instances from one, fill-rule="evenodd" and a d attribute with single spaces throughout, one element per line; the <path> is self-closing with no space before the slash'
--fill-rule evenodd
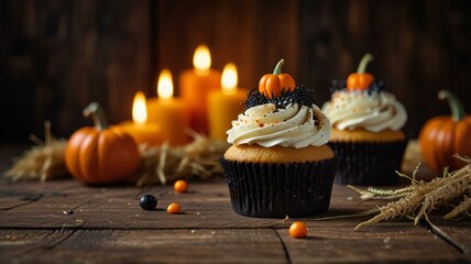
<path id="1" fill-rule="evenodd" d="M 284 63 L 285 61 L 282 58 L 276 64 L 273 74 L 262 76 L 259 81 L 260 94 L 273 99 L 274 97 L 280 97 L 283 90 L 293 91 L 296 88 L 293 77 L 288 74 L 282 74 L 282 65 Z"/>

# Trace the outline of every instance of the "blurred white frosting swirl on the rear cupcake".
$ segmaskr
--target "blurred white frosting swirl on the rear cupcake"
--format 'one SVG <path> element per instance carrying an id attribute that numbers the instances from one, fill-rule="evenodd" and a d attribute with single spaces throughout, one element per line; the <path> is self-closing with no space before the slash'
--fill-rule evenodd
<path id="1" fill-rule="evenodd" d="M 338 130 L 399 130 L 407 120 L 404 106 L 387 91 L 338 90 L 322 106 L 322 112 Z"/>

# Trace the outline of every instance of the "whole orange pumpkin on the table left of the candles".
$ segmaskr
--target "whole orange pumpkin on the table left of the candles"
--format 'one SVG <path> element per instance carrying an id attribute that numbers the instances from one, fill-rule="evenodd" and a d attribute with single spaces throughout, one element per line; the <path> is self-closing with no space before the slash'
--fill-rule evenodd
<path id="1" fill-rule="evenodd" d="M 125 180 L 141 162 L 135 141 L 120 129 L 108 129 L 105 114 L 96 102 L 84 110 L 84 116 L 91 116 L 95 128 L 77 130 L 67 142 L 65 164 L 69 173 L 92 185 Z"/>

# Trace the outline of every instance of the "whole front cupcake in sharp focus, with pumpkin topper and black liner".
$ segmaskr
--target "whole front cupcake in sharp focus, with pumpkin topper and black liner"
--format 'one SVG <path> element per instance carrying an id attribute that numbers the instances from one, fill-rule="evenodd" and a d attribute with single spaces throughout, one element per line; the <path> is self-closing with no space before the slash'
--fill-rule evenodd
<path id="1" fill-rule="evenodd" d="M 227 132 L 221 158 L 233 210 L 249 217 L 310 217 L 327 211 L 337 158 L 331 127 L 311 90 L 281 74 L 283 59 L 249 92 Z"/>

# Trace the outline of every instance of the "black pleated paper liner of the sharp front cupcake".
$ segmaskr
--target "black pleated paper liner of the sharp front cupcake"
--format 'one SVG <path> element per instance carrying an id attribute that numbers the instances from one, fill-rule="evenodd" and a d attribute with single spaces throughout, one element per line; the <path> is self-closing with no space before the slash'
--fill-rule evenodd
<path id="1" fill-rule="evenodd" d="M 338 158 L 293 164 L 222 158 L 232 209 L 248 217 L 311 217 L 327 211 Z"/>

